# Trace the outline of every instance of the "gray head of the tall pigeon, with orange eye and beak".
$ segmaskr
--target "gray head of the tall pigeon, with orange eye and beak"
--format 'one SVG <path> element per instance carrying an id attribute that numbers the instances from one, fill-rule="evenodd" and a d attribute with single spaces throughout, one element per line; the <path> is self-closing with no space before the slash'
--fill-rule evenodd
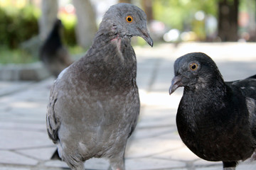
<path id="1" fill-rule="evenodd" d="M 120 38 L 140 36 L 153 46 L 153 40 L 146 28 L 146 13 L 132 4 L 120 3 L 110 6 L 102 18 L 99 30 L 118 35 Z"/>

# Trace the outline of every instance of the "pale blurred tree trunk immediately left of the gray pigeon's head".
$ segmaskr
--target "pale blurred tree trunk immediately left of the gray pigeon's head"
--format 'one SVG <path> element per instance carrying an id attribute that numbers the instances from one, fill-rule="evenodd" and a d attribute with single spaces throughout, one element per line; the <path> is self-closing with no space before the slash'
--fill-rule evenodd
<path id="1" fill-rule="evenodd" d="M 90 47 L 97 32 L 95 11 L 92 8 L 90 0 L 73 0 L 73 4 L 78 18 L 75 32 L 76 38 L 82 47 Z"/>

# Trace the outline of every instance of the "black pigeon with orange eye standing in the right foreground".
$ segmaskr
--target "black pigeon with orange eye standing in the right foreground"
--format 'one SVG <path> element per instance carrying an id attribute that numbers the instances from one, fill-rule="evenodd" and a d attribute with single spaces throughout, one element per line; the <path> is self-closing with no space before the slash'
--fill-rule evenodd
<path id="1" fill-rule="evenodd" d="M 185 145 L 198 157 L 234 170 L 256 148 L 256 75 L 223 81 L 208 55 L 179 57 L 169 93 L 183 86 L 176 124 Z"/>

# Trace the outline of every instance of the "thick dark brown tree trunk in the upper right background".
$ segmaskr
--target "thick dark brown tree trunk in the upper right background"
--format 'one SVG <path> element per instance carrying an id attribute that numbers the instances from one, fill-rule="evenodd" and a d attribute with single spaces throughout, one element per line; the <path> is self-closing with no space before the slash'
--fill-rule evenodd
<path id="1" fill-rule="evenodd" d="M 222 41 L 238 40 L 239 0 L 220 0 L 218 3 L 218 36 Z"/>

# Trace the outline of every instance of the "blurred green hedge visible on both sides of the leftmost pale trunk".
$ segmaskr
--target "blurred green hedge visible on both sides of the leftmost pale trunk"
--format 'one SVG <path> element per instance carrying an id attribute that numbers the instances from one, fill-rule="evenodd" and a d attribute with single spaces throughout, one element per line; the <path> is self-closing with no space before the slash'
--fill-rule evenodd
<path id="1" fill-rule="evenodd" d="M 16 49 L 30 38 L 38 35 L 38 19 L 41 11 L 35 6 L 15 8 L 0 7 L 0 46 Z M 60 16 L 64 26 L 64 42 L 75 45 L 75 16 Z"/>

